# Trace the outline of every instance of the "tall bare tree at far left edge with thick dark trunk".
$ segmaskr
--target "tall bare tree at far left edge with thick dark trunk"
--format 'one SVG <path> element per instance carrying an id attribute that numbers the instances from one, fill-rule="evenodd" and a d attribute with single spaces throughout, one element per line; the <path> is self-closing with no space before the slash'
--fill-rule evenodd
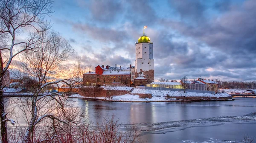
<path id="1" fill-rule="evenodd" d="M 52 0 L 1 0 L 0 1 L 0 120 L 1 140 L 8 142 L 6 115 L 3 101 L 3 77 L 8 71 L 12 60 L 18 54 L 33 50 L 31 45 L 38 41 L 34 36 L 26 40 L 17 40 L 17 33 L 26 36 L 29 30 L 38 27 L 47 30 L 49 23 L 45 16 L 52 13 Z"/>

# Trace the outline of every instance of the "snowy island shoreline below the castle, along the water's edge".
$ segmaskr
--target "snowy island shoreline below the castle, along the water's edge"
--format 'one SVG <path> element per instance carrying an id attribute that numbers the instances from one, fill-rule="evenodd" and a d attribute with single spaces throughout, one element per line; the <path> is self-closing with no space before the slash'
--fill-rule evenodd
<path id="1" fill-rule="evenodd" d="M 142 98 L 141 95 L 152 95 L 151 98 Z M 134 88 L 130 93 L 125 95 L 113 95 L 111 97 L 85 97 L 79 94 L 67 96 L 70 98 L 84 98 L 111 102 L 180 102 L 180 101 L 228 101 L 232 96 L 227 93 L 192 93 L 179 92 L 170 90 L 147 90 Z"/>

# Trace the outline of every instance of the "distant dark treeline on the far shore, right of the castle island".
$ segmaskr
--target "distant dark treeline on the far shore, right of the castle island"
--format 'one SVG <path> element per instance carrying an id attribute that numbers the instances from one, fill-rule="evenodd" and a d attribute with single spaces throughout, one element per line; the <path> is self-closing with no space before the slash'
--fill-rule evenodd
<path id="1" fill-rule="evenodd" d="M 217 81 L 218 88 L 256 89 L 256 81 Z"/>

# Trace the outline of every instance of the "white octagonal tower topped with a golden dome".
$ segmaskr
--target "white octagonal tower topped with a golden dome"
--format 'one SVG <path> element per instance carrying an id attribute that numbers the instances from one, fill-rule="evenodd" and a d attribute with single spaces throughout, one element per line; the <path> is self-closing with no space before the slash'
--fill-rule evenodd
<path id="1" fill-rule="evenodd" d="M 154 81 L 153 42 L 143 34 L 136 42 L 135 76 L 143 76 L 148 83 Z"/>

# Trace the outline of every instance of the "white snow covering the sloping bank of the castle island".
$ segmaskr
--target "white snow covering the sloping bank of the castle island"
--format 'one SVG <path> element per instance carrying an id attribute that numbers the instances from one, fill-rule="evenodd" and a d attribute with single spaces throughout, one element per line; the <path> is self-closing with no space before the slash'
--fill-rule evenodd
<path id="1" fill-rule="evenodd" d="M 123 88 L 118 88 L 125 90 Z M 129 90 L 127 88 L 127 90 Z M 140 98 L 138 94 L 151 94 L 152 98 Z M 209 93 L 192 93 L 186 92 L 184 93 L 179 91 L 170 91 L 170 90 L 147 90 L 147 89 L 139 89 L 134 88 L 129 94 L 125 95 L 113 95 L 112 98 L 105 98 L 105 97 L 96 97 L 96 99 L 105 99 L 105 100 L 113 100 L 113 101 L 175 101 L 176 98 L 166 98 L 166 96 L 171 97 L 230 97 L 227 93 L 217 93 L 217 94 L 209 94 Z M 93 97 L 84 97 L 79 94 L 73 94 L 70 97 L 73 98 L 93 98 Z"/>

